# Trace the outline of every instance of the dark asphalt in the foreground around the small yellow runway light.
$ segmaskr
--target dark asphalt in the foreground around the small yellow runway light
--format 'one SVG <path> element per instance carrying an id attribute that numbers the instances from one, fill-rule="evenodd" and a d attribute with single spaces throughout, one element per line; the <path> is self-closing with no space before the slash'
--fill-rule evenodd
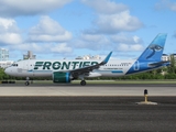
<path id="1" fill-rule="evenodd" d="M 0 131 L 175 132 L 176 97 L 1 97 Z"/>

